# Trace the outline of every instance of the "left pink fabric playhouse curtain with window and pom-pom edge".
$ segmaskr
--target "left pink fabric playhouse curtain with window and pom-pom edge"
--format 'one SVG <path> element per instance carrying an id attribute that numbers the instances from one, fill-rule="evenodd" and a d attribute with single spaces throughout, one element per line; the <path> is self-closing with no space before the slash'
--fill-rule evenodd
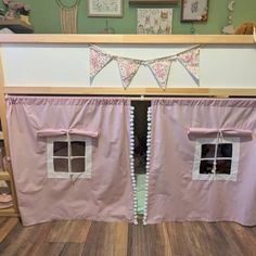
<path id="1" fill-rule="evenodd" d="M 8 97 L 7 104 L 25 226 L 53 219 L 136 221 L 129 100 Z"/>

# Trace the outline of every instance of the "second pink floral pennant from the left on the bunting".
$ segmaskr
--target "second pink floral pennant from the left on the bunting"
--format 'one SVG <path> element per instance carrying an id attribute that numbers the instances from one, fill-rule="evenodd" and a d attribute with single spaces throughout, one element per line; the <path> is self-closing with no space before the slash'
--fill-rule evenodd
<path id="1" fill-rule="evenodd" d="M 139 67 L 141 65 L 141 61 L 133 60 L 133 59 L 127 59 L 127 57 L 117 57 L 116 62 L 119 67 L 123 87 L 126 89 L 130 85 L 135 75 L 137 74 Z"/>

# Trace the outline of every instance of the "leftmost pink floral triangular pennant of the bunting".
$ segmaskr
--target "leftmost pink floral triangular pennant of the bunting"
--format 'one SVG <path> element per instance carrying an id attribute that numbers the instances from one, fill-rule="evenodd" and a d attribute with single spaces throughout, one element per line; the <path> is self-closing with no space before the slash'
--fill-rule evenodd
<path id="1" fill-rule="evenodd" d="M 102 52 L 97 47 L 90 47 L 90 82 L 93 81 L 95 75 L 112 60 L 113 55 Z"/>

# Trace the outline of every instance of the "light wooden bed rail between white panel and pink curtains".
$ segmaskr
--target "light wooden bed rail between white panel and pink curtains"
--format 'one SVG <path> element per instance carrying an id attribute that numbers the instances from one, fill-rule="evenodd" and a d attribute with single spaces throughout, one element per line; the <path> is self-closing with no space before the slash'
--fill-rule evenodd
<path id="1" fill-rule="evenodd" d="M 151 100 L 149 97 L 179 97 L 179 95 L 194 95 L 194 97 L 255 97 L 256 89 L 253 88 L 167 88 L 165 90 L 161 88 L 80 88 L 80 87 L 5 87 L 5 94 L 74 94 L 74 95 L 121 95 L 132 97 L 143 95 L 143 98 L 136 100 Z"/>

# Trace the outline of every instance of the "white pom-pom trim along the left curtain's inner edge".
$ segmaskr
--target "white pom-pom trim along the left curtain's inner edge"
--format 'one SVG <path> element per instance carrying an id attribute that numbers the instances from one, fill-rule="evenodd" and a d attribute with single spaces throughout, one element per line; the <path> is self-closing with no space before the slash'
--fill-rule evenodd
<path id="1" fill-rule="evenodd" d="M 137 200 L 137 185 L 135 176 L 135 106 L 130 106 L 130 176 L 133 193 L 133 223 L 138 225 L 138 200 Z"/>

